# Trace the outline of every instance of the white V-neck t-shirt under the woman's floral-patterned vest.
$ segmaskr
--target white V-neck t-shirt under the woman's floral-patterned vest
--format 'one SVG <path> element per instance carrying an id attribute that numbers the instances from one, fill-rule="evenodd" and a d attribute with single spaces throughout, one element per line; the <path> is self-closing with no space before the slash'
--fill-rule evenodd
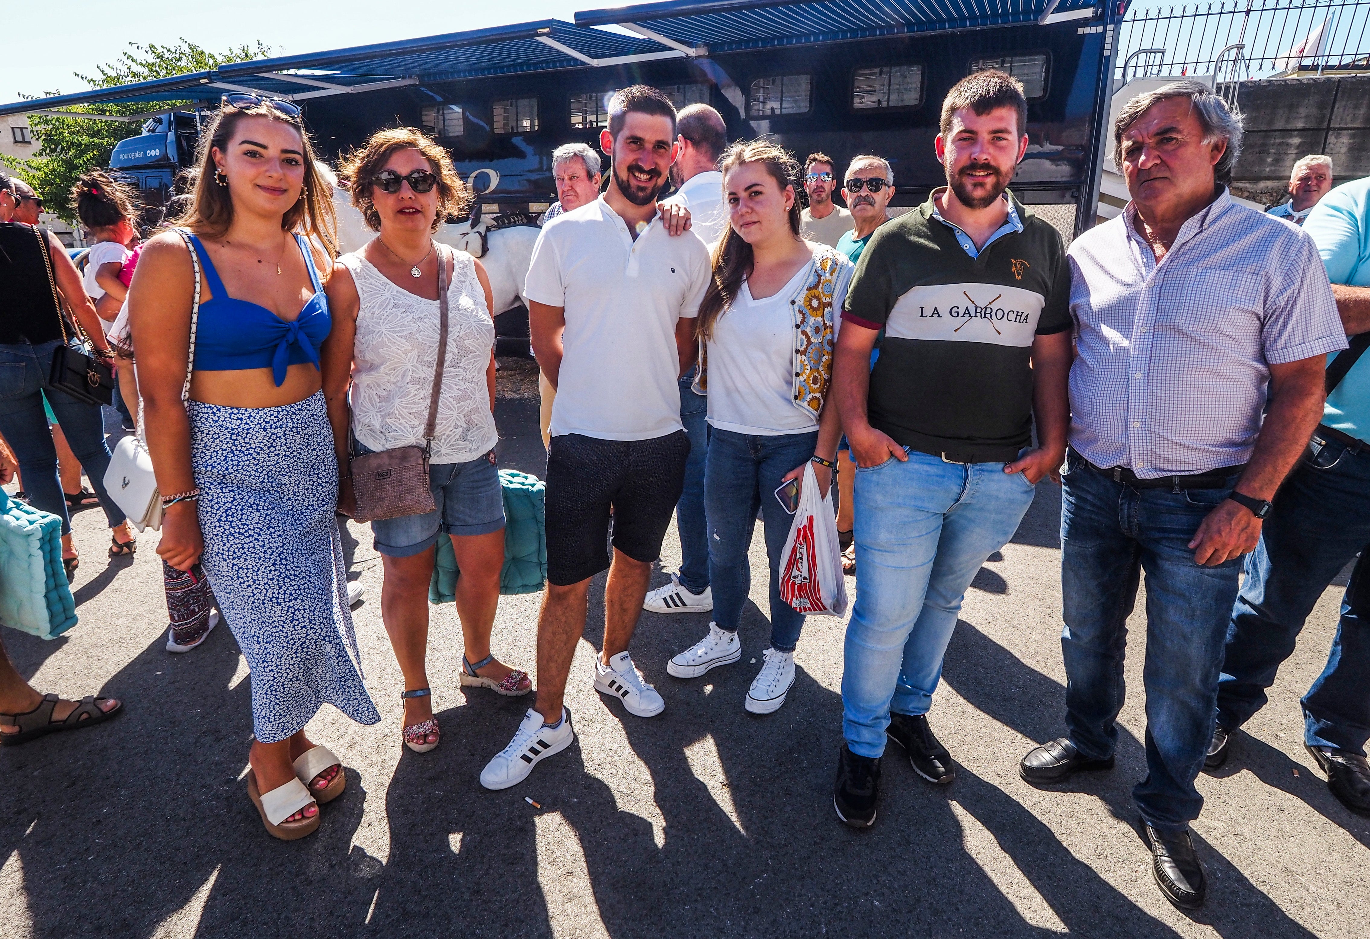
<path id="1" fill-rule="evenodd" d="M 756 437 L 818 430 L 818 416 L 795 407 L 795 311 L 804 264 L 774 296 L 754 300 L 747 281 L 714 320 L 708 341 L 708 423 Z M 834 300 L 840 308 L 841 301 Z"/>

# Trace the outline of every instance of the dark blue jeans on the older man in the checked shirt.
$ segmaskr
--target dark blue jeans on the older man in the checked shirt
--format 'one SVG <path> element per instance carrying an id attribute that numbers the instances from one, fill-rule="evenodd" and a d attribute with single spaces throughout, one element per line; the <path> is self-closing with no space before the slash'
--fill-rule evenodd
<path id="1" fill-rule="evenodd" d="M 1133 791 L 1141 817 L 1163 829 L 1199 817 L 1195 777 L 1212 736 L 1222 642 L 1241 558 L 1195 563 L 1199 524 L 1221 489 L 1133 489 L 1091 470 L 1071 450 L 1060 497 L 1060 587 L 1066 627 L 1066 728 L 1085 757 L 1118 743 L 1128 616 L 1147 572 L 1147 777 Z"/>

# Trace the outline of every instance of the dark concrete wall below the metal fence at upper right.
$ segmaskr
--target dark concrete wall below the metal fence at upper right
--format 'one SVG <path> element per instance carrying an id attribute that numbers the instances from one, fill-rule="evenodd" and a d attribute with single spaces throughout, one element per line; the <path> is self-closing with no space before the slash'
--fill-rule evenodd
<path id="1" fill-rule="evenodd" d="M 1289 171 L 1307 153 L 1330 156 L 1338 182 L 1370 175 L 1370 75 L 1243 82 L 1237 104 L 1247 140 L 1233 189 L 1249 198 L 1284 201 Z"/>

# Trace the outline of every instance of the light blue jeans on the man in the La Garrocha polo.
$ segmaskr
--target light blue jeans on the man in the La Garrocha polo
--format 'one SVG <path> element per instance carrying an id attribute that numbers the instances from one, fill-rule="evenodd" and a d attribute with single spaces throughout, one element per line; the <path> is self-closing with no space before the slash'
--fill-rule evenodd
<path id="1" fill-rule="evenodd" d="M 1003 463 L 945 463 L 918 450 L 907 463 L 856 468 L 856 605 L 843 672 L 852 753 L 885 751 L 891 710 L 927 713 L 966 587 L 1012 538 L 1033 491 Z"/>

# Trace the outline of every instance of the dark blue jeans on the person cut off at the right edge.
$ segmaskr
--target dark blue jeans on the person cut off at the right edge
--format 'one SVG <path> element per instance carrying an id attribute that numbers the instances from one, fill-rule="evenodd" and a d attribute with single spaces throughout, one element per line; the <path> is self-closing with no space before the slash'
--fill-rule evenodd
<path id="1" fill-rule="evenodd" d="M 1321 438 L 1317 434 L 1315 438 Z M 1360 552 L 1322 675 L 1303 697 L 1304 739 L 1365 756 L 1370 738 L 1370 452 L 1312 443 L 1274 500 L 1260 543 L 1247 557 L 1218 679 L 1218 723 L 1241 727 L 1322 591 Z"/>

